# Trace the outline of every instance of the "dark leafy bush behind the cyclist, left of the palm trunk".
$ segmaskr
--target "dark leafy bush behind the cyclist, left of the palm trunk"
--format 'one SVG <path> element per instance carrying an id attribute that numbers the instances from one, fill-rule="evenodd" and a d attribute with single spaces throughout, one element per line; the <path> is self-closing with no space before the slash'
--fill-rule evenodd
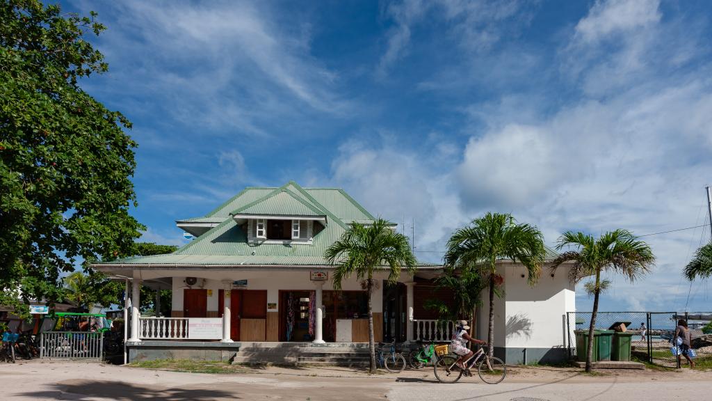
<path id="1" fill-rule="evenodd" d="M 449 290 L 453 296 L 451 300 L 436 298 L 425 302 L 426 309 L 437 311 L 441 327 L 464 317 L 470 322 L 475 321 L 475 308 L 482 304 L 480 295 L 487 287 L 481 275 L 473 271 L 448 269 L 435 279 L 435 285 L 438 289 Z"/>

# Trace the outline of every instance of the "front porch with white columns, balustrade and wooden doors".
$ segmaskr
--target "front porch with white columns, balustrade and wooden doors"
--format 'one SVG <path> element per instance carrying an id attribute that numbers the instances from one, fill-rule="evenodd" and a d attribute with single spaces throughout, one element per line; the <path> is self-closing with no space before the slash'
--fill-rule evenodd
<path id="1" fill-rule="evenodd" d="M 116 270 L 115 275 L 124 273 Z M 155 355 L 152 359 L 201 355 L 199 349 L 205 350 L 205 357 L 223 360 L 231 356 L 222 350 L 231 350 L 234 355 L 240 344 L 253 343 L 276 349 L 272 344 L 368 342 L 367 294 L 358 280 L 345 280 L 342 290 L 336 291 L 329 280 L 330 270 L 269 270 L 142 269 L 132 270 L 132 278 L 124 275 L 130 283 L 126 305 L 130 315 L 128 360 L 145 359 L 148 354 Z M 415 280 L 426 278 L 414 280 L 404 275 L 394 286 L 387 285 L 384 278 L 384 274 L 378 275 L 372 293 L 375 342 L 449 340 L 450 330 L 441 333 L 434 318 L 414 319 L 414 315 L 426 315 L 414 297 Z M 140 314 L 135 305 L 141 303 L 141 285 L 171 288 L 171 317 Z"/>

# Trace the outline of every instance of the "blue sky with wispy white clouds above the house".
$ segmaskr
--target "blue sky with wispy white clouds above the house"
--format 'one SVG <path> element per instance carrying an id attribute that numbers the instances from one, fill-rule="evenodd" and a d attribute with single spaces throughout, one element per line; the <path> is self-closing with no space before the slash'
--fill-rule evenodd
<path id="1" fill-rule="evenodd" d="M 71 1 L 108 29 L 83 88 L 133 123 L 142 240 L 245 186 L 344 188 L 441 260 L 487 211 L 646 235 L 600 310 L 710 310 L 708 1 Z M 414 227 L 413 227 L 414 226 Z M 592 300 L 577 288 L 577 309 Z"/>

